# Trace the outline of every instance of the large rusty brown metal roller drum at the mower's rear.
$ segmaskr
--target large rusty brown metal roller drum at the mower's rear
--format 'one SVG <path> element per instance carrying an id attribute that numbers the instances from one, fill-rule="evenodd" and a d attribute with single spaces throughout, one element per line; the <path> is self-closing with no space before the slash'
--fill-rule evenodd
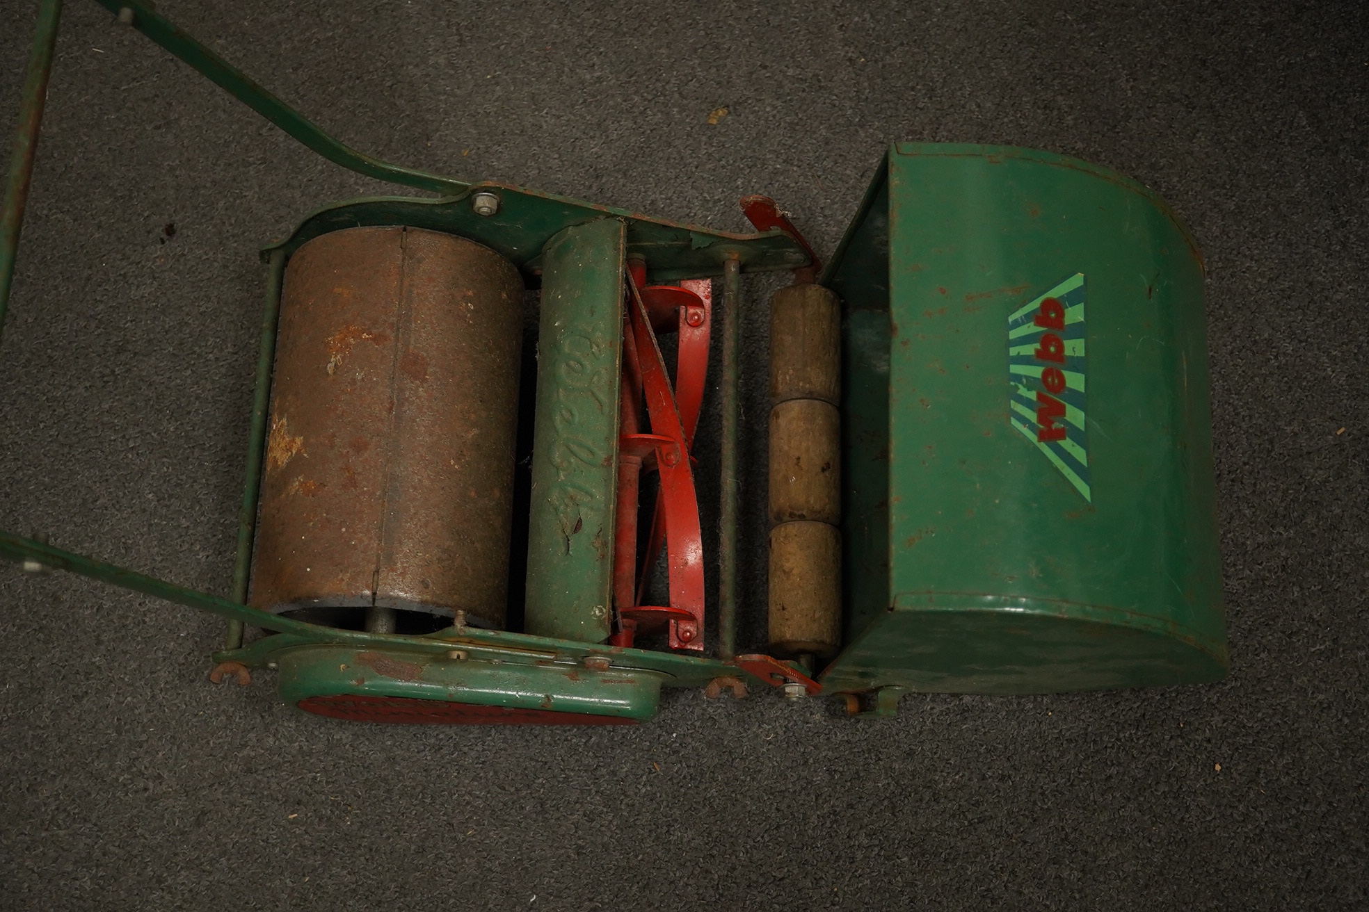
<path id="1" fill-rule="evenodd" d="M 249 602 L 467 613 L 502 626 L 523 282 L 418 228 L 348 228 L 290 260 Z"/>

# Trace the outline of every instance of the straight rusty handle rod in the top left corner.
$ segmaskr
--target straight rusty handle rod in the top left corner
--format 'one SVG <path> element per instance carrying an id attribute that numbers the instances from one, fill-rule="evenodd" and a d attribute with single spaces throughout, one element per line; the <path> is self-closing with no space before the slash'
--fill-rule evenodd
<path id="1" fill-rule="evenodd" d="M 52 72 L 52 49 L 57 44 L 60 18 L 62 0 L 42 0 L 38 25 L 33 31 L 33 49 L 29 52 L 29 70 L 23 78 L 19 129 L 14 134 L 10 179 L 5 182 L 4 206 L 0 208 L 0 338 L 4 335 L 4 314 L 10 308 L 14 258 L 19 252 L 23 208 L 29 202 L 33 156 L 38 150 L 38 129 L 42 124 L 42 105 L 48 100 L 48 74 Z"/>

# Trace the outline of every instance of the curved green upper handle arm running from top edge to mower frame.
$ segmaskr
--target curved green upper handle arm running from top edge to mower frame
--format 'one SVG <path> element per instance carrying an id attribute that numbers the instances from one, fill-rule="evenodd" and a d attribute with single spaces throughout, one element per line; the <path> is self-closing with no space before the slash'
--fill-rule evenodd
<path id="1" fill-rule="evenodd" d="M 119 22 L 130 25 L 152 38 L 234 98 L 334 164 L 350 168 L 357 174 L 364 174 L 368 178 L 418 187 L 419 190 L 428 190 L 442 196 L 459 196 L 465 193 L 471 186 L 464 180 L 444 178 L 439 174 L 390 164 L 389 161 L 382 161 L 381 159 L 342 145 L 298 111 L 246 78 L 231 63 L 178 29 L 170 19 L 156 12 L 152 4 L 145 0 L 96 1 L 119 16 Z"/>

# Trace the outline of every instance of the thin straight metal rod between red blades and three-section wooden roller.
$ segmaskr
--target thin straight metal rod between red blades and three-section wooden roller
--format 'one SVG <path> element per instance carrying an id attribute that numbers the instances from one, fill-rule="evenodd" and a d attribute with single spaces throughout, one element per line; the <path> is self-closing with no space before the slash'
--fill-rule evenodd
<path id="1" fill-rule="evenodd" d="M 723 264 L 723 479 L 720 505 L 717 581 L 719 654 L 737 656 L 737 525 L 741 488 L 737 480 L 738 428 L 741 421 L 742 263 L 735 256 Z"/>

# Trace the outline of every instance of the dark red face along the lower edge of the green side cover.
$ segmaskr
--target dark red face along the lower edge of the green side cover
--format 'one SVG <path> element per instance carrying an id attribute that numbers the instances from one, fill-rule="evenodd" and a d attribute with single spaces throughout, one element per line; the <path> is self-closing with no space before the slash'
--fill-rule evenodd
<path id="1" fill-rule="evenodd" d="M 637 725 L 637 719 L 591 712 L 557 712 L 556 710 L 511 710 L 502 706 L 476 706 L 415 697 L 379 697 L 337 695 L 305 697 L 298 707 L 305 712 L 349 722 L 390 722 L 401 725 Z"/>

